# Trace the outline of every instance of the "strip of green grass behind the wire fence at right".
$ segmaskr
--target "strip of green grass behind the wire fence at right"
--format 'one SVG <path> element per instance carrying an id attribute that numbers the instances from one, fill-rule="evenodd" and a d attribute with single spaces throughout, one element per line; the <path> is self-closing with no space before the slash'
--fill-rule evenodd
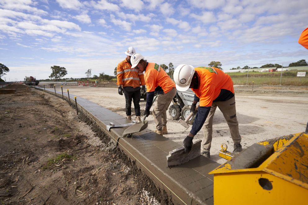
<path id="1" fill-rule="evenodd" d="M 308 86 L 308 72 L 305 77 L 297 77 L 297 72 L 307 71 L 283 71 L 281 84 L 293 85 L 293 86 Z M 247 72 L 246 73 L 227 73 L 233 80 L 234 85 L 246 85 L 247 84 Z M 254 82 L 255 85 L 280 85 L 281 72 L 261 73 L 261 72 L 249 72 L 248 84 L 251 85 Z"/>

